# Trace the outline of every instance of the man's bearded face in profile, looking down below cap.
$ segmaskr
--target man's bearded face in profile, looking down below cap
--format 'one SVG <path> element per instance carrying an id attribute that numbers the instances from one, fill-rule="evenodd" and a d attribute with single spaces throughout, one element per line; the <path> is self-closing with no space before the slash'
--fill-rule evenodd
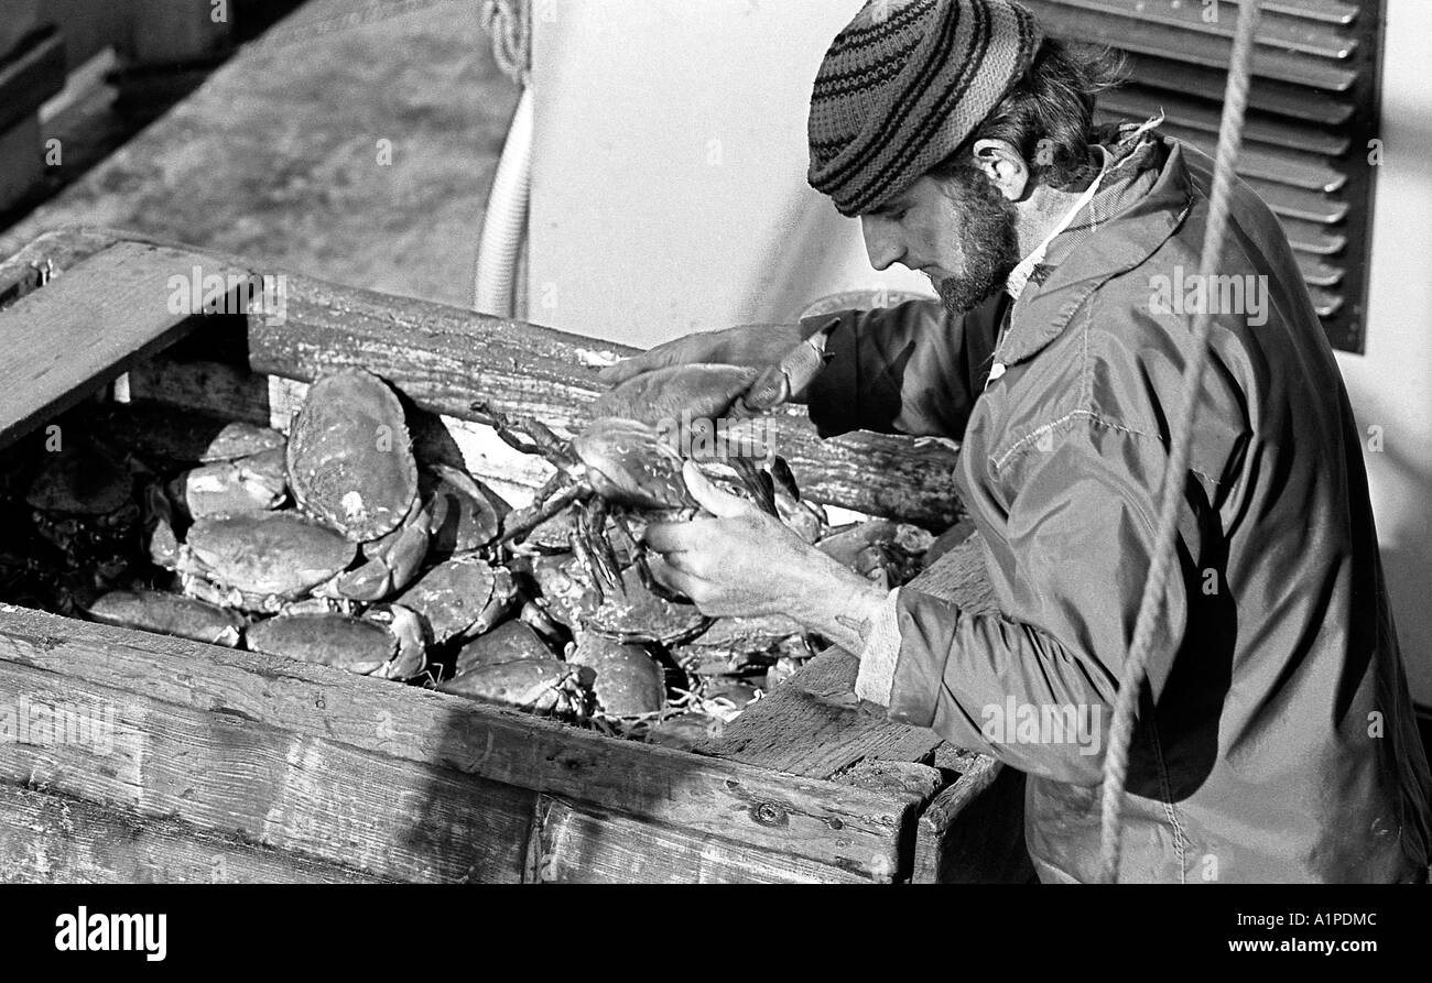
<path id="1" fill-rule="evenodd" d="M 925 273 L 951 313 L 979 306 L 1020 263 L 1015 209 L 982 172 L 919 177 L 878 212 L 861 216 L 875 269 Z"/>

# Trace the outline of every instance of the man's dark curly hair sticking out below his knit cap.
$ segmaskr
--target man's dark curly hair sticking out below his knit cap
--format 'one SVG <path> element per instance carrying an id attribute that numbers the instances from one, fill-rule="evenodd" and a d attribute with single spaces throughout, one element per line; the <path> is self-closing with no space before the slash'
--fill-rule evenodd
<path id="1" fill-rule="evenodd" d="M 929 176 L 961 176 L 974 166 L 974 145 L 992 139 L 1014 146 L 1040 183 L 1058 189 L 1087 185 L 1098 170 L 1090 153 L 1094 100 L 1123 84 L 1126 66 L 1121 52 L 1045 39 L 1028 72 L 954 153 L 929 169 Z"/>

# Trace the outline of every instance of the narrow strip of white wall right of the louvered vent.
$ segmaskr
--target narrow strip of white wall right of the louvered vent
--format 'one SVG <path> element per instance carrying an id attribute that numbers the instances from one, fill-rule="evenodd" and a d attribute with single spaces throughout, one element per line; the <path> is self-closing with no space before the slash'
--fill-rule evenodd
<path id="1" fill-rule="evenodd" d="M 1402 652 L 1418 703 L 1432 704 L 1432 3 L 1388 0 L 1382 140 L 1373 213 L 1368 346 L 1342 355 L 1368 452 L 1372 505 Z"/>

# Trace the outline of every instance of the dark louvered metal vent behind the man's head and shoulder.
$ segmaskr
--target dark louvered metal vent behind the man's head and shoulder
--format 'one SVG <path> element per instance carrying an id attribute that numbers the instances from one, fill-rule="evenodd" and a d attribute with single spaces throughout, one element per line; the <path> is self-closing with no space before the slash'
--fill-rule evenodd
<path id="1" fill-rule="evenodd" d="M 1098 122 L 1143 122 L 1211 155 L 1232 0 L 1021 0 L 1048 34 L 1130 56 Z M 1335 348 L 1363 346 L 1383 0 L 1264 0 L 1239 173 L 1282 219 Z"/>

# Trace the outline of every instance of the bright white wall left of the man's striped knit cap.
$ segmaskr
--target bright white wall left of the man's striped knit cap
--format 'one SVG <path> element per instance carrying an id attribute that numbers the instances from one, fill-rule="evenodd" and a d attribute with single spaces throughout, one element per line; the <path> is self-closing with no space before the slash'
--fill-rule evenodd
<path id="1" fill-rule="evenodd" d="M 806 112 L 861 0 L 534 4 L 527 318 L 653 345 L 795 319 L 876 273 L 813 192 Z M 853 306 L 853 305 L 848 305 Z"/>

